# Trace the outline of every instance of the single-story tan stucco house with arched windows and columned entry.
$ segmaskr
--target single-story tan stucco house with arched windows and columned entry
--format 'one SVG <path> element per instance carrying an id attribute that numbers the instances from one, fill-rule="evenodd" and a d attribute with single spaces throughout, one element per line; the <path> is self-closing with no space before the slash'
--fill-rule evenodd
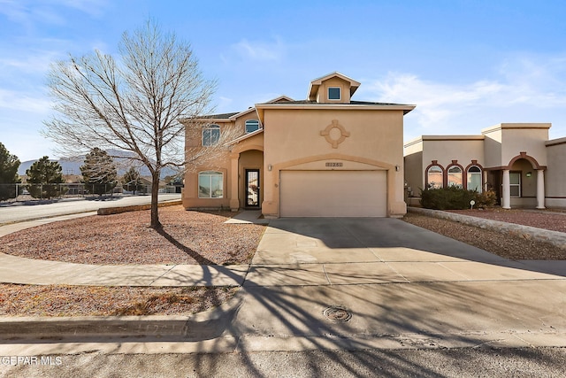
<path id="1" fill-rule="evenodd" d="M 481 135 L 423 135 L 405 144 L 409 204 L 420 189 L 493 189 L 504 209 L 566 207 L 566 138 L 549 123 L 501 123 Z"/>

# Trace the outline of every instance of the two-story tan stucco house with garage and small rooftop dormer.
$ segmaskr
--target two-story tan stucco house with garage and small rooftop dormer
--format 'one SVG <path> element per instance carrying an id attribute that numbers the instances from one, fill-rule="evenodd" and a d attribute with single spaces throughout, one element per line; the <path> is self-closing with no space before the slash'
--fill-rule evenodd
<path id="1" fill-rule="evenodd" d="M 261 209 L 265 217 L 401 217 L 407 104 L 353 101 L 341 73 L 310 82 L 307 99 L 280 96 L 243 112 L 203 117 L 187 150 L 236 127 L 224 156 L 185 175 L 187 209 Z M 181 120 L 187 122 L 187 120 Z M 189 127 L 187 127 L 187 130 Z"/>

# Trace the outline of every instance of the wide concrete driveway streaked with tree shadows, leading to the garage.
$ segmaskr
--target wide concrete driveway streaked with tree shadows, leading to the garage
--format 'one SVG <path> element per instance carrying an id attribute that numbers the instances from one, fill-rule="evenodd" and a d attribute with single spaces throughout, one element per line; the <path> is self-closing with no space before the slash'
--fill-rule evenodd
<path id="1" fill-rule="evenodd" d="M 244 351 L 566 346 L 566 261 L 511 261 L 386 218 L 272 220 Z"/>

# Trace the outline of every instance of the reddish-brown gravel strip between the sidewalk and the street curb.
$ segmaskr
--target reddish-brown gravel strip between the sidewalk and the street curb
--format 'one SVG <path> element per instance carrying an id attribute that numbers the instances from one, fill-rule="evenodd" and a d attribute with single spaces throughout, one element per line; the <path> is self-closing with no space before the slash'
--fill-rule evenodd
<path id="1" fill-rule="evenodd" d="M 238 288 L 132 288 L 0 284 L 0 316 L 188 315 L 223 304 Z"/>

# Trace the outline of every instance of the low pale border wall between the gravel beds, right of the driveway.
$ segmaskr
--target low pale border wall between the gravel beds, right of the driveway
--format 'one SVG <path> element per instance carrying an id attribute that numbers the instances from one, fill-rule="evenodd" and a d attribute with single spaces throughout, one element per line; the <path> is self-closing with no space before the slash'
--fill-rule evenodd
<path id="1" fill-rule="evenodd" d="M 485 218 L 471 217 L 469 215 L 456 214 L 454 212 L 443 212 L 440 210 L 424 209 L 420 207 L 407 207 L 408 212 L 416 212 L 442 220 L 452 220 L 477 228 L 490 228 L 501 233 L 523 237 L 526 240 L 536 240 L 554 245 L 556 248 L 566 251 L 566 233 L 550 231 L 543 228 L 506 223 L 499 220 L 486 220 Z"/>

